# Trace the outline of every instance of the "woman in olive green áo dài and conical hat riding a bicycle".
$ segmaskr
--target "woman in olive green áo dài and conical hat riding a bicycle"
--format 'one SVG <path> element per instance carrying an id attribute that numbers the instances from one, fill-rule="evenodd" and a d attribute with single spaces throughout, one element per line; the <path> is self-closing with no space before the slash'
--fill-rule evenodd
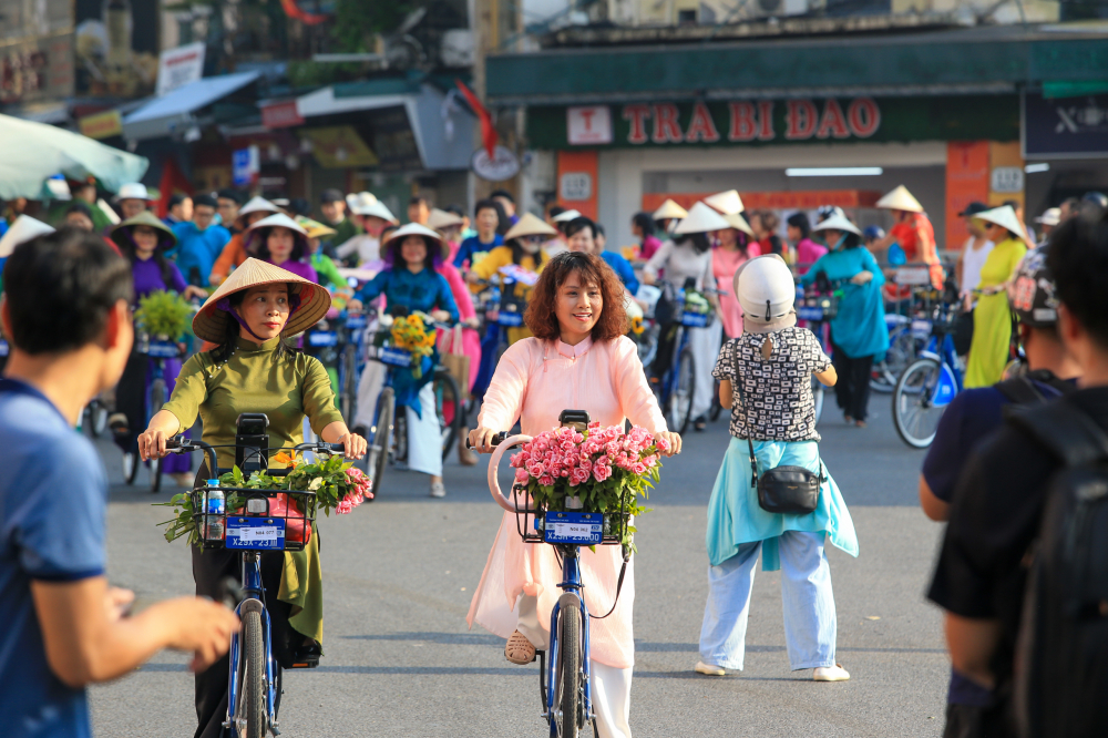
<path id="1" fill-rule="evenodd" d="M 270 444 L 302 442 L 305 417 L 328 443 L 341 443 L 348 458 L 366 453 L 366 440 L 349 431 L 335 407 L 324 366 L 285 342 L 315 325 L 330 307 L 327 290 L 290 271 L 247 259 L 207 299 L 193 319 L 197 338 L 217 348 L 193 356 L 181 370 L 170 401 L 138 437 L 144 459 L 164 457 L 166 439 L 193 426 L 199 413 L 206 443 L 217 448 L 220 468 L 235 462 L 238 416 L 269 418 Z M 205 462 L 197 484 L 207 479 Z M 223 596 L 226 577 L 240 576 L 235 551 L 193 547 L 196 594 Z M 319 534 L 301 552 L 261 556 L 261 580 L 273 627 L 274 652 L 283 667 L 317 660 L 324 635 Z M 197 738 L 217 738 L 227 714 L 227 659 L 196 676 Z"/>

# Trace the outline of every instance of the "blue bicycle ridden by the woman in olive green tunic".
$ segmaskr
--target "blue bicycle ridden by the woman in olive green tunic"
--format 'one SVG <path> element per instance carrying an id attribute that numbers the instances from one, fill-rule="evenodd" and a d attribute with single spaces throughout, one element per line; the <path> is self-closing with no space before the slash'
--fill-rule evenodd
<path id="1" fill-rule="evenodd" d="M 239 418 L 239 428 L 244 418 Z M 260 416 L 265 418 L 265 416 Z M 268 424 L 268 420 L 265 420 Z M 242 431 L 240 431 L 242 432 Z M 216 448 L 235 448 L 239 468 L 245 474 L 268 467 L 268 453 L 284 449 L 263 449 L 244 445 L 246 438 L 239 435 L 235 444 L 213 447 L 203 441 L 182 437 L 170 439 L 166 450 L 172 453 L 202 451 L 208 459 L 213 480 L 227 469 L 219 469 Z M 260 435 L 268 439 L 267 435 Z M 268 444 L 268 441 L 265 441 Z M 341 443 L 300 443 L 291 451 L 310 451 L 320 455 L 342 453 Z M 284 475 L 288 470 L 269 469 L 268 474 Z M 212 504 L 212 493 L 220 492 L 224 510 Z M 205 550 L 233 549 L 240 552 L 242 585 L 235 613 L 242 621 L 242 629 L 230 638 L 229 686 L 227 695 L 227 720 L 223 724 L 230 730 L 232 738 L 265 738 L 280 735 L 277 713 L 283 693 L 283 667 L 274 655 L 269 612 L 266 609 L 265 588 L 261 585 L 261 554 L 265 552 L 302 551 L 311 536 L 316 520 L 316 493 L 297 490 L 252 490 L 235 486 L 203 486 L 191 493 L 193 520 L 202 534 L 201 546 Z M 226 501 L 232 495 L 243 501 L 243 508 L 232 511 Z M 277 514 L 270 514 L 275 501 Z M 284 514 L 280 502 L 285 503 Z M 315 668 L 318 660 L 294 664 L 293 668 Z"/>

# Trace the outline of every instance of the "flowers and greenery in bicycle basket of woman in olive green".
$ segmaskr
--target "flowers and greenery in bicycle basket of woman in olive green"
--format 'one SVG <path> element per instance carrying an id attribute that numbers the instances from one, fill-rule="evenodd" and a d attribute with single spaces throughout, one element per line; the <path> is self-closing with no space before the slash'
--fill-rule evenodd
<path id="1" fill-rule="evenodd" d="M 271 476 L 265 472 L 256 471 L 249 476 L 243 474 L 238 467 L 219 476 L 219 486 L 237 488 L 242 490 L 293 490 L 308 491 L 316 493 L 316 508 L 322 510 L 325 515 L 330 516 L 331 510 L 340 515 L 350 513 L 362 503 L 365 499 L 372 499 L 370 491 L 371 482 L 360 469 L 342 457 L 331 457 L 330 459 L 307 463 L 304 457 L 290 457 L 284 451 L 273 458 L 275 464 L 285 464 L 291 468 L 286 476 Z M 288 495 L 280 495 L 288 498 Z M 284 514 L 284 505 L 288 505 L 288 517 L 304 516 L 305 511 L 298 510 L 295 498 L 281 500 L 270 498 L 270 514 Z M 174 516 L 160 525 L 165 525 L 165 540 L 173 542 L 179 537 L 188 536 L 188 543 L 199 542 L 199 530 L 193 514 L 194 498 L 192 492 L 175 494 L 168 502 L 155 503 L 173 508 Z M 246 498 L 242 493 L 228 491 L 226 495 L 226 509 L 228 513 L 238 513 L 246 504 Z M 277 508 L 280 512 L 275 512 Z"/>

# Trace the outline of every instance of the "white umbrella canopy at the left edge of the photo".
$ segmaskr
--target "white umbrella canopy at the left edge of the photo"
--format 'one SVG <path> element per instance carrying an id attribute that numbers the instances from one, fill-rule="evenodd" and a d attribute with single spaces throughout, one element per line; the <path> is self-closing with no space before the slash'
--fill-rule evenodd
<path id="1" fill-rule="evenodd" d="M 111 192 L 138 182 L 150 167 L 145 156 L 112 148 L 79 133 L 0 115 L 0 197 L 43 196 L 47 178 L 94 176 Z"/>

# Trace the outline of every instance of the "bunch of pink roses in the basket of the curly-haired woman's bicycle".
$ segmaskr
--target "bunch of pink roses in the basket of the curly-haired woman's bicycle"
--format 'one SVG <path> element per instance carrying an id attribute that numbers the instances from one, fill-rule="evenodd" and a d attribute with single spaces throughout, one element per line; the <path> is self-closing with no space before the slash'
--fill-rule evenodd
<path id="1" fill-rule="evenodd" d="M 584 431 L 555 428 L 540 433 L 512 457 L 515 482 L 525 486 L 542 510 L 576 510 L 630 516 L 650 512 L 639 504 L 658 481 L 665 439 L 655 441 L 650 431 L 622 426 L 601 428 L 589 423 Z M 623 544 L 632 545 L 635 527 L 624 527 Z"/>

